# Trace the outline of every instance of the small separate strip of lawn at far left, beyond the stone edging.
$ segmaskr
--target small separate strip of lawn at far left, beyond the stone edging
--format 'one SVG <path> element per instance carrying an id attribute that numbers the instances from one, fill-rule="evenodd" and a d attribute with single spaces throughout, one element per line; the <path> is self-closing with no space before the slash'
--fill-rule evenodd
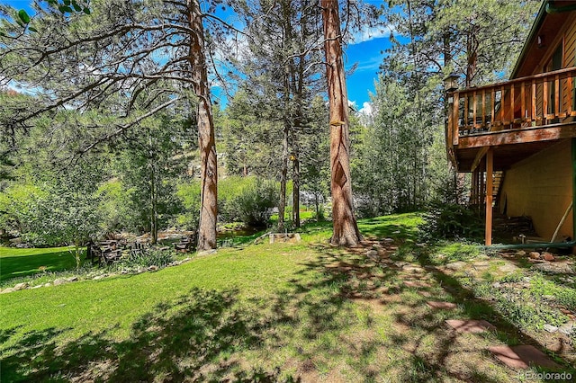
<path id="1" fill-rule="evenodd" d="M 0 247 L 0 282 L 43 271 L 60 272 L 74 269 L 76 258 L 73 251 L 74 247 L 42 249 Z"/>

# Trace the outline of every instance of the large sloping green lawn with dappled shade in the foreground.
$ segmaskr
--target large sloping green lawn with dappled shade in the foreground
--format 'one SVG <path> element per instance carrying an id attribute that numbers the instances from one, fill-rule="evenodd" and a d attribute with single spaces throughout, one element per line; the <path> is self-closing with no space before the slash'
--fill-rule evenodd
<path id="1" fill-rule="evenodd" d="M 417 239 L 418 222 L 360 227 L 398 248 Z M 329 236 L 329 223 L 311 224 L 300 244 L 230 246 L 158 272 L 1 294 L 0 380 L 518 381 L 485 352 L 518 343 L 516 327 L 460 281 L 371 262 L 368 250 L 393 247 L 347 250 Z M 427 282 L 427 296 L 409 280 Z M 444 325 L 454 317 L 499 331 L 456 337 Z"/>

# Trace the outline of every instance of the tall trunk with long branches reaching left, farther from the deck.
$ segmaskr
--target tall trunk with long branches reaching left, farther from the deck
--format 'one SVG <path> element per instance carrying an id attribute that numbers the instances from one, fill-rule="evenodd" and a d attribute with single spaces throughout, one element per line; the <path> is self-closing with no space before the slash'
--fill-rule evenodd
<path id="1" fill-rule="evenodd" d="M 198 142 L 202 179 L 198 250 L 216 248 L 216 219 L 218 218 L 218 163 L 214 139 L 210 88 L 204 54 L 204 29 L 198 0 L 188 0 L 190 17 L 190 66 L 194 93 L 198 97 Z"/>

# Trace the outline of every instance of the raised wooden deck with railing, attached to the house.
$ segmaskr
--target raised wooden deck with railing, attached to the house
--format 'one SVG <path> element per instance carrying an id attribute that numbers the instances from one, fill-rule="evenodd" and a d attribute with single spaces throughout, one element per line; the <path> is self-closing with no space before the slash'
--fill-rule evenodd
<path id="1" fill-rule="evenodd" d="M 473 172 L 491 147 L 494 170 L 503 170 L 576 137 L 575 76 L 570 67 L 449 94 L 446 147 L 455 168 Z"/>

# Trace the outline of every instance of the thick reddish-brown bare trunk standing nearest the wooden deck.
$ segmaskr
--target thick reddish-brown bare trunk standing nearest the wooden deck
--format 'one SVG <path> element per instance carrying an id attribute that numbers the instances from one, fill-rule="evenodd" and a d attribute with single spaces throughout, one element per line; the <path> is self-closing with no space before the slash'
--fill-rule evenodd
<path id="1" fill-rule="evenodd" d="M 352 200 L 350 177 L 348 94 L 342 62 L 342 36 L 337 0 L 321 0 L 324 50 L 330 105 L 330 189 L 332 191 L 332 245 L 355 246 L 362 239 Z"/>

